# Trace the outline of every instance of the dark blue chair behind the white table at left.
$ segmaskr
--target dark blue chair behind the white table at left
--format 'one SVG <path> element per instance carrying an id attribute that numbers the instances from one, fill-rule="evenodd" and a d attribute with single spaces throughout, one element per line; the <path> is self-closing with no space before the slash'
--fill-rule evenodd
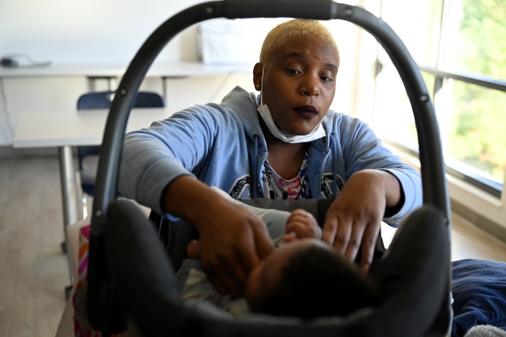
<path id="1" fill-rule="evenodd" d="M 77 100 L 77 110 L 109 109 L 113 98 L 113 91 L 83 94 Z M 139 92 L 134 103 L 134 108 L 163 108 L 164 106 L 163 98 L 152 92 Z M 99 146 L 79 146 L 77 148 L 81 188 L 89 196 L 93 196 L 94 193 L 99 148 Z"/>

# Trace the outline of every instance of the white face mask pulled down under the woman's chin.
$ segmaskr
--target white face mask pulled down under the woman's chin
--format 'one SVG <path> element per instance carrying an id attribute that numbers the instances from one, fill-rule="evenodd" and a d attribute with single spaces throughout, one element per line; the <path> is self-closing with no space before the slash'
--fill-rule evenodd
<path id="1" fill-rule="evenodd" d="M 265 69 L 265 68 L 264 68 Z M 262 83 L 260 88 L 260 105 L 258 106 L 258 112 L 262 116 L 267 128 L 274 135 L 274 137 L 282 140 L 285 143 L 308 143 L 314 141 L 315 139 L 319 139 L 326 136 L 325 130 L 323 130 L 323 125 L 321 121 L 316 125 L 316 127 L 307 135 L 290 135 L 278 128 L 274 118 L 272 118 L 271 110 L 264 104 L 263 100 L 263 90 L 264 90 L 264 70 L 262 70 Z"/>

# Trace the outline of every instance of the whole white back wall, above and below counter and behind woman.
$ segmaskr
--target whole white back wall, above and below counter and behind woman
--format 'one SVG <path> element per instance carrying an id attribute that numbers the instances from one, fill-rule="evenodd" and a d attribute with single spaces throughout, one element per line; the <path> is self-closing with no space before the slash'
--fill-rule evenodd
<path id="1" fill-rule="evenodd" d="M 124 64 L 162 22 L 199 0 L 0 0 L 0 57 L 28 54 L 52 64 Z M 356 29 L 347 22 L 329 23 L 341 49 L 341 68 L 332 108 L 354 114 Z M 259 33 L 255 31 L 254 33 Z M 260 53 L 260 46 L 258 47 Z M 18 58 L 20 64 L 26 63 Z M 173 39 L 155 62 L 197 61 L 197 28 Z M 118 81 L 117 81 L 118 82 Z M 116 82 L 116 83 L 117 83 Z M 0 146 L 12 144 L 17 116 L 24 110 L 74 109 L 80 94 L 89 90 L 85 77 L 3 78 L 0 81 Z M 98 83 L 100 87 L 104 83 Z M 224 74 L 170 79 L 167 92 L 161 80 L 146 78 L 141 89 L 166 94 L 167 104 L 187 106 L 219 102 L 239 85 L 255 91 L 249 74 Z M 62 125 L 63 127 L 63 125 Z"/>

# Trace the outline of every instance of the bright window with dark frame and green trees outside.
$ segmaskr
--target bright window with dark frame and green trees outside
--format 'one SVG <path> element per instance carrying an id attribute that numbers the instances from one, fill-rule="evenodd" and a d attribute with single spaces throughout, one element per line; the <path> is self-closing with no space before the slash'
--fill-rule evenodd
<path id="1" fill-rule="evenodd" d="M 448 173 L 500 197 L 506 171 L 506 0 L 383 0 L 381 17 L 420 67 L 438 117 Z M 417 152 L 411 106 L 379 47 L 374 130 Z"/>

